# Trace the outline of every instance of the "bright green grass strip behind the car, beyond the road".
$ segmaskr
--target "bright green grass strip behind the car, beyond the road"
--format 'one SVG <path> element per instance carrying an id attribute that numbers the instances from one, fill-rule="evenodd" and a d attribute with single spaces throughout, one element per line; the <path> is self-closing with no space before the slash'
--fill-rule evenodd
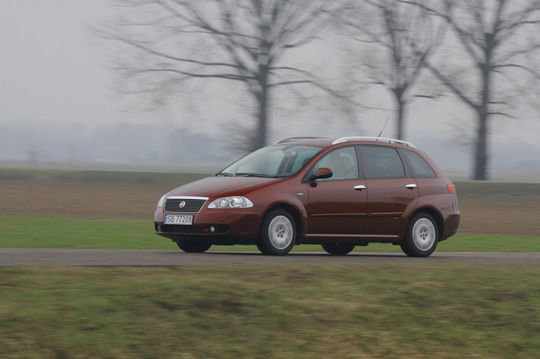
<path id="1" fill-rule="evenodd" d="M 172 250 L 176 245 L 154 234 L 147 220 L 0 215 L 0 247 L 5 248 L 130 248 Z M 214 246 L 212 250 L 256 251 L 253 245 Z M 295 251 L 321 250 L 319 245 Z M 401 252 L 399 246 L 371 243 L 356 252 Z M 540 252 L 540 237 L 458 233 L 439 243 L 438 252 Z"/>

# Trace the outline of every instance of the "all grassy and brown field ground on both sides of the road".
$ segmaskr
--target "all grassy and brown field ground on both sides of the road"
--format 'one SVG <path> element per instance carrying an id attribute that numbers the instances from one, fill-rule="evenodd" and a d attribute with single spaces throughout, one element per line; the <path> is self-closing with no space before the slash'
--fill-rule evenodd
<path id="1" fill-rule="evenodd" d="M 0 169 L 0 247 L 175 250 L 156 202 L 202 176 Z M 437 251 L 540 251 L 540 185 L 456 187 Z M 540 285 L 537 265 L 0 267 L 0 323 L 0 358 L 534 358 Z"/>

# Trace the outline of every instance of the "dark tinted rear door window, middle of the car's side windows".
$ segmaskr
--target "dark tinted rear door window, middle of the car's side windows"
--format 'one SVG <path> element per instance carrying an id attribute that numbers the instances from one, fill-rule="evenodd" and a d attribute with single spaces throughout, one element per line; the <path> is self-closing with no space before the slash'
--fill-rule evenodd
<path id="1" fill-rule="evenodd" d="M 362 146 L 365 178 L 402 178 L 405 169 L 395 148 Z"/>

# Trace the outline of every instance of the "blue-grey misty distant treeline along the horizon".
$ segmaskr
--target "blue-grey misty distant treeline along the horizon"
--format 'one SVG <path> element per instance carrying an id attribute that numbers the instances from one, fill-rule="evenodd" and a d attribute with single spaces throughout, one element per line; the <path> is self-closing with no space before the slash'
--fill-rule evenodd
<path id="1" fill-rule="evenodd" d="M 286 135 L 283 133 L 281 136 Z M 470 170 L 469 155 L 456 151 L 454 140 L 417 139 L 441 168 L 450 172 Z M 119 122 L 97 128 L 81 124 L 0 124 L 0 162 L 3 165 L 93 165 L 132 164 L 145 168 L 182 172 L 193 168 L 214 171 L 241 156 L 225 139 L 194 133 L 170 125 Z M 223 148 L 228 150 L 223 150 Z M 516 156 L 519 156 L 516 158 Z M 538 148 L 527 143 L 502 142 L 493 150 L 495 172 L 540 172 Z"/>

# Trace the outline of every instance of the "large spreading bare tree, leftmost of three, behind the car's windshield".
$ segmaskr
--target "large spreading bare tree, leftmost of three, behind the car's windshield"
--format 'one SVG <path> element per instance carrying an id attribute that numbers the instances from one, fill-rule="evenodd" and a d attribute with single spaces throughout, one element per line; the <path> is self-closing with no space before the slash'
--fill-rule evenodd
<path id="1" fill-rule="evenodd" d="M 271 92 L 279 86 L 315 85 L 305 69 L 282 64 L 291 49 L 311 42 L 332 19 L 325 0 L 116 0 L 120 21 L 101 35 L 125 45 L 118 70 L 134 85 L 166 99 L 188 79 L 245 84 L 257 107 L 251 150 L 265 146 Z M 133 88 L 132 88 L 133 89 Z"/>

